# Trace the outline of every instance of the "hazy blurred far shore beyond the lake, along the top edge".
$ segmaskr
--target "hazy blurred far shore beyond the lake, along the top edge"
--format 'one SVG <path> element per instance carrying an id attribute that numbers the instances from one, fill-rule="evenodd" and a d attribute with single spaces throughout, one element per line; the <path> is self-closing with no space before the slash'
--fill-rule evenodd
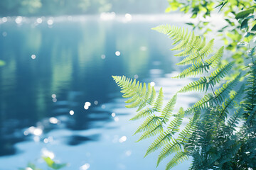
<path id="1" fill-rule="evenodd" d="M 60 16 L 115 13 L 163 13 L 167 1 L 160 0 L 1 0 L 1 16 Z"/>

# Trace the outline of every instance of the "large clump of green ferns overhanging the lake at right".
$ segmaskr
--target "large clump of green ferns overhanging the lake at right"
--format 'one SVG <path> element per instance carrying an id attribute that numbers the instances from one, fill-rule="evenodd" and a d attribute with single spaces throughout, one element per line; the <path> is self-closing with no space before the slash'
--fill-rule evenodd
<path id="1" fill-rule="evenodd" d="M 223 2 L 220 6 L 225 6 Z M 247 15 L 240 13 L 238 17 Z M 248 14 L 249 15 L 249 14 Z M 142 133 L 139 140 L 158 135 L 146 150 L 145 157 L 161 149 L 156 165 L 174 154 L 166 170 L 193 157 L 190 169 L 255 169 L 256 144 L 256 67 L 252 63 L 245 71 L 226 81 L 235 62 L 221 65 L 224 47 L 213 52 L 213 40 L 196 36 L 193 31 L 176 26 L 162 25 L 154 30 L 174 40 L 176 56 L 183 57 L 178 65 L 191 65 L 175 79 L 201 76 L 183 86 L 163 107 L 164 93 L 135 79 L 114 76 L 124 97 L 129 97 L 128 107 L 139 107 L 131 120 L 145 118 L 135 132 Z M 253 48 L 254 49 L 254 48 Z M 253 50 L 252 49 L 252 50 Z M 220 67 L 219 67 L 220 65 Z M 241 81 L 241 78 L 243 81 Z M 215 89 L 215 90 L 214 90 Z M 205 95 L 193 106 L 174 106 L 180 93 L 203 92 Z M 243 98 L 243 99 L 242 99 Z M 188 115 L 192 115 L 187 117 Z M 184 118 L 189 122 L 181 129 Z M 242 126 L 241 126 L 242 124 Z M 138 141 L 139 141 L 138 140 Z"/>

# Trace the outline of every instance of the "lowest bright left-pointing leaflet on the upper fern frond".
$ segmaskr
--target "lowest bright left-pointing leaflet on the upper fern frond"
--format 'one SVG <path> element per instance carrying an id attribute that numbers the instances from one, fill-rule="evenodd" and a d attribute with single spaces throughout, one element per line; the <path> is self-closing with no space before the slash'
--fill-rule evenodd
<path id="1" fill-rule="evenodd" d="M 178 93 L 185 93 L 188 91 L 207 91 L 208 89 L 208 80 L 206 77 L 201 77 L 201 79 L 197 81 L 193 81 L 190 84 L 181 88 Z"/>

